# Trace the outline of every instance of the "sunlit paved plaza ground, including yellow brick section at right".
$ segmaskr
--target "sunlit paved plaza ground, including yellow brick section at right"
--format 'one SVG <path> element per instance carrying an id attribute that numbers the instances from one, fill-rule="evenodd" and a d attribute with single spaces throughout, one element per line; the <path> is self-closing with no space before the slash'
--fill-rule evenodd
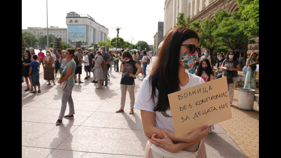
<path id="1" fill-rule="evenodd" d="M 152 63 L 147 66 L 147 74 Z M 120 64 L 120 63 L 119 63 Z M 119 65 L 120 66 L 120 65 Z M 83 70 L 82 70 L 83 71 Z M 240 72 L 241 73 L 241 72 Z M 47 86 L 43 67 L 40 67 L 41 93 L 24 91 L 22 83 L 22 157 L 26 158 L 141 158 L 144 157 L 147 138 L 143 132 L 141 113 L 134 109 L 130 115 L 130 97 L 127 92 L 124 112 L 120 108 L 121 72 L 112 69 L 108 86 L 95 89 L 91 77 L 73 87 L 74 119 L 63 119 L 56 125 L 61 109 L 62 89 L 56 85 Z M 135 97 L 142 82 L 141 74 L 135 79 Z M 77 75 L 78 81 L 78 75 Z M 204 139 L 208 158 L 259 157 L 259 110 L 237 108 L 239 88 L 235 87 L 232 118 L 214 125 L 214 130 Z M 257 89 L 256 93 L 259 93 Z M 69 108 L 65 115 L 68 114 Z"/>

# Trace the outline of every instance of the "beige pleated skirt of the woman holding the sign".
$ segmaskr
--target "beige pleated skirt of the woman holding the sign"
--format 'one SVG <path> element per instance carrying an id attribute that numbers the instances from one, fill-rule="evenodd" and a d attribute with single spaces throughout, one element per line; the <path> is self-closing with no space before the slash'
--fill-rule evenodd
<path id="1" fill-rule="evenodd" d="M 199 146 L 199 142 L 195 143 L 193 145 L 190 145 L 189 147 L 186 147 L 183 150 L 184 151 L 189 151 L 189 152 L 195 152 L 195 151 L 197 151 L 198 146 Z M 145 158 L 153 158 L 153 155 L 152 155 L 152 152 L 151 152 L 151 148 L 150 148 L 150 145 L 149 145 L 149 141 L 147 141 L 146 147 L 145 147 Z M 199 149 L 199 153 L 198 153 L 196 158 L 207 158 L 207 153 L 206 153 L 206 148 L 205 148 L 204 140 L 202 142 L 202 145 L 201 145 L 201 147 Z"/>

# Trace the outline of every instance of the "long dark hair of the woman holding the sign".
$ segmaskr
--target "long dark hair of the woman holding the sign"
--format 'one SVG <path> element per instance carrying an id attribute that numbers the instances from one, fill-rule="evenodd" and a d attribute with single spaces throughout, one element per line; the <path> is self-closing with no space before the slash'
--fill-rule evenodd
<path id="1" fill-rule="evenodd" d="M 154 102 L 154 111 L 160 112 L 170 109 L 168 94 L 180 90 L 179 51 L 182 42 L 189 38 L 197 38 L 198 42 L 200 40 L 194 30 L 184 27 L 173 28 L 165 37 L 149 76 L 149 84 L 152 89 L 150 99 L 154 102 L 154 99 L 157 98 L 157 101 Z"/>

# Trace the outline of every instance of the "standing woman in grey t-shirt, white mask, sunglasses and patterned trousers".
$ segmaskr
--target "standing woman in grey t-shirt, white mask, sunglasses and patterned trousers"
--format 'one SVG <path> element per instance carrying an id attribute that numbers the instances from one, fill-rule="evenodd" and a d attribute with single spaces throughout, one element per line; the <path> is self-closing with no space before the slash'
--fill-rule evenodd
<path id="1" fill-rule="evenodd" d="M 230 101 L 230 106 L 232 106 L 232 100 L 234 97 L 234 88 L 238 78 L 237 71 L 240 71 L 240 63 L 237 60 L 237 57 L 233 50 L 227 52 L 226 59 L 223 61 L 223 64 L 221 65 L 220 69 L 221 71 L 223 71 L 222 77 L 227 76 L 229 101 Z"/>

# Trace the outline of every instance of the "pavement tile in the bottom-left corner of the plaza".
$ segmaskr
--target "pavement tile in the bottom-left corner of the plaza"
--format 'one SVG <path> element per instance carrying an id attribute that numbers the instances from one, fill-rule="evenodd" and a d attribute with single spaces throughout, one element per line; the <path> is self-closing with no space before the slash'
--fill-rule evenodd
<path id="1" fill-rule="evenodd" d="M 22 158 L 45 158 L 53 150 L 54 149 L 22 146 Z"/>

